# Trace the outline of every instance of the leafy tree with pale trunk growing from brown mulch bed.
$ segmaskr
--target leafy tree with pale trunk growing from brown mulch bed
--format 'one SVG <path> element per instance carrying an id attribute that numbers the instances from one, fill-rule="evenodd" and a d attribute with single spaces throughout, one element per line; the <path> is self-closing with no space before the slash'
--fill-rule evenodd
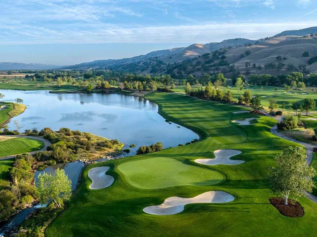
<path id="1" fill-rule="evenodd" d="M 315 187 L 312 177 L 316 171 L 306 164 L 305 148 L 288 147 L 275 157 L 276 167 L 268 167 L 267 181 L 275 195 L 281 195 L 287 205 L 288 196 L 297 200 Z"/>

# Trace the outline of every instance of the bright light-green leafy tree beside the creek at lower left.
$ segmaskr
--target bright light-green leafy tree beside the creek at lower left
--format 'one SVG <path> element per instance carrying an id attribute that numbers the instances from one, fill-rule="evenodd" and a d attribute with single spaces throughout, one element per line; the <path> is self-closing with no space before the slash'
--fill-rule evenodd
<path id="1" fill-rule="evenodd" d="M 39 174 L 36 183 L 36 195 L 41 202 L 47 203 L 53 200 L 58 207 L 61 207 L 61 200 L 69 200 L 71 195 L 72 181 L 65 175 L 64 170 L 57 169 L 54 174 Z"/>

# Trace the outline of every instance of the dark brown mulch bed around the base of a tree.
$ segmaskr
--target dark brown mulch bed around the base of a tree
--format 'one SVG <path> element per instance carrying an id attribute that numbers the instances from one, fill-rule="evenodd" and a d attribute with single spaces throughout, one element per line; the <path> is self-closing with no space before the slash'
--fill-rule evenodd
<path id="1" fill-rule="evenodd" d="M 288 206 L 285 206 L 284 198 L 281 197 L 272 197 L 269 201 L 283 216 L 301 217 L 304 215 L 304 209 L 298 202 L 288 200 Z"/>

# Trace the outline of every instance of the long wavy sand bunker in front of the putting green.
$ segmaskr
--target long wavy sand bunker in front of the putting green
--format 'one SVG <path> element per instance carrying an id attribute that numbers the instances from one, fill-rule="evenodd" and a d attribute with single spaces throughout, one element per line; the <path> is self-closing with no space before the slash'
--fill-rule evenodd
<path id="1" fill-rule="evenodd" d="M 186 204 L 223 203 L 231 202 L 234 199 L 234 196 L 224 191 L 209 191 L 192 198 L 169 197 L 165 199 L 163 204 L 146 207 L 143 211 L 151 215 L 173 215 L 182 212 Z"/>

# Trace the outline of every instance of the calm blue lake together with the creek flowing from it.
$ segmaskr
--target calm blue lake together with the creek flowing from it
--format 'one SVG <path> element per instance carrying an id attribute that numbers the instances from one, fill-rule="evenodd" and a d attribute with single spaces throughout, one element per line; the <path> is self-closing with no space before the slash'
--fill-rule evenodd
<path id="1" fill-rule="evenodd" d="M 199 136 L 193 131 L 175 123 L 165 122 L 158 114 L 158 105 L 144 98 L 120 94 L 55 94 L 49 91 L 0 90 L 5 95 L 3 101 L 14 102 L 23 99 L 27 109 L 11 119 L 10 130 L 15 130 L 14 120 L 19 120 L 25 129 L 44 127 L 58 130 L 67 127 L 71 130 L 91 132 L 108 139 L 118 139 L 126 144 L 136 144 L 130 154 L 136 153 L 139 146 L 162 142 L 164 148 L 185 144 Z M 178 128 L 178 126 L 180 128 Z M 122 156 L 122 155 L 121 155 Z M 121 157 L 120 156 L 120 157 Z M 53 172 L 64 168 L 72 180 L 72 190 L 78 181 L 83 163 L 73 162 L 47 167 L 43 171 Z M 35 177 L 39 173 L 36 171 Z M 27 208 L 3 223 L 0 232 L 10 230 L 20 224 L 33 208 Z"/>

